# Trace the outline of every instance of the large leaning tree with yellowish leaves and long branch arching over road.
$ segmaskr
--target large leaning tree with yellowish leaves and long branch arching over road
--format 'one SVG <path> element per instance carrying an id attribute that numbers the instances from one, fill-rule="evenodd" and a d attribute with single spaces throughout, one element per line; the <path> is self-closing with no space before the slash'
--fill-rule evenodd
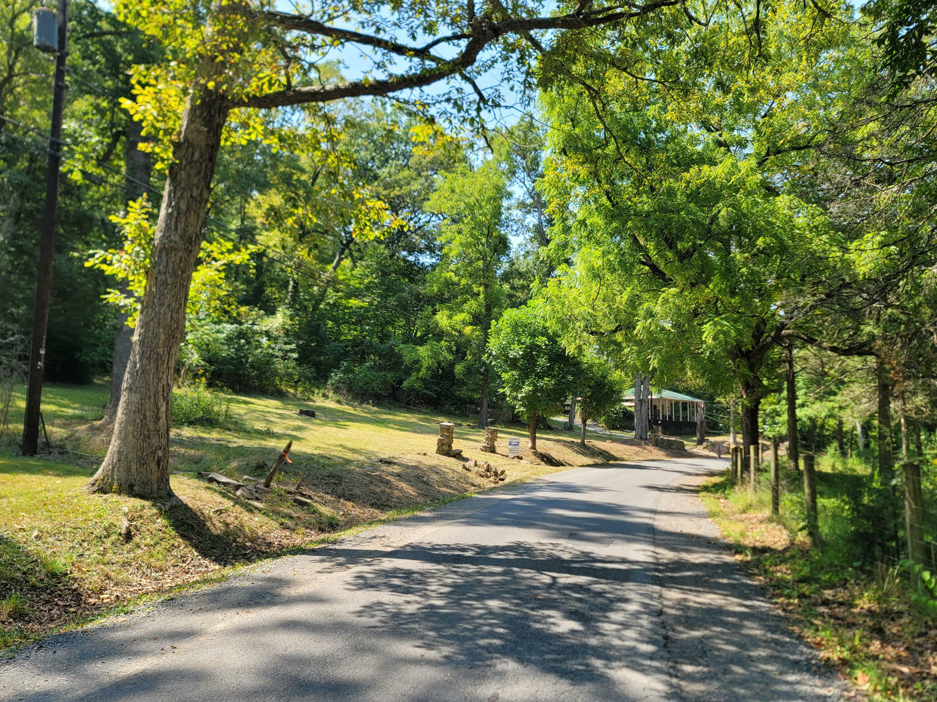
<path id="1" fill-rule="evenodd" d="M 417 4 L 388 13 L 380 4 L 356 3 L 329 7 L 317 17 L 262 9 L 245 0 L 116 3 L 123 21 L 159 37 L 170 54 L 170 62 L 136 76 L 134 108 L 154 133 L 167 181 L 112 442 L 90 489 L 173 497 L 171 388 L 186 326 L 186 294 L 218 149 L 222 139 L 258 134 L 260 123 L 251 110 L 395 95 L 449 78 L 477 88 L 472 78 L 477 71 L 514 65 L 514 59 L 524 66 L 523 42 L 543 48 L 532 33 L 558 30 L 557 40 L 568 32 L 622 24 L 677 5 L 678 0 L 596 9 L 579 5 L 572 12 L 542 16 L 539 5 L 512 12 L 499 3 L 485 4 L 476 12 L 473 3 Z M 330 23 L 343 20 L 362 31 Z M 415 36 L 433 38 L 422 46 L 408 44 L 407 37 Z M 316 58 L 344 45 L 371 55 L 374 71 L 359 80 L 320 80 Z M 451 58 L 433 51 L 439 46 L 451 49 Z M 407 65 L 403 72 L 392 72 L 397 61 Z M 525 80 L 523 67 L 519 78 Z M 235 124 L 226 128 L 232 116 Z"/>

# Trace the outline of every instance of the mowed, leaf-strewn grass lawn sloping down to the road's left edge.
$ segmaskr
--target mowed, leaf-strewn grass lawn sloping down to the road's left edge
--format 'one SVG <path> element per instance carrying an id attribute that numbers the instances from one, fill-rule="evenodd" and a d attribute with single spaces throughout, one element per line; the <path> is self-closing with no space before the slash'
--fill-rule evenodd
<path id="1" fill-rule="evenodd" d="M 27 459 L 14 456 L 10 445 L 0 449 L 0 648 L 498 484 L 568 465 L 667 456 L 591 431 L 586 447 L 573 432 L 543 431 L 540 457 L 509 461 L 508 436 L 520 436 L 526 445 L 522 425 L 501 427 L 498 454 L 492 455 L 479 449 L 483 431 L 471 427 L 468 417 L 231 395 L 240 430 L 173 428 L 171 485 L 183 505 L 164 510 L 145 500 L 82 491 L 106 450 L 94 422 L 103 415 L 107 392 L 104 384 L 45 388 L 52 453 Z M 22 396 L 19 402 L 13 417 L 22 417 Z M 301 408 L 317 416 L 300 417 Z M 463 449 L 464 458 L 436 455 L 443 420 L 457 423 L 454 447 Z M 248 501 L 198 476 L 266 475 L 290 440 L 292 462 L 278 481 L 302 481 L 315 497 L 311 506 L 293 505 L 281 489 L 262 503 Z M 470 459 L 503 468 L 505 483 L 467 470 Z M 129 538 L 121 534 L 125 520 Z"/>

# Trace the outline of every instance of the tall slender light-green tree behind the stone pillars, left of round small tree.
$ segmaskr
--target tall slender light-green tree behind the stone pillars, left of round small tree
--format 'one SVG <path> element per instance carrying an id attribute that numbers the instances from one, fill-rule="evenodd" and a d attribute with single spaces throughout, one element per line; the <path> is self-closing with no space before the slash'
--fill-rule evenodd
<path id="1" fill-rule="evenodd" d="M 498 274 L 508 253 L 504 202 L 508 173 L 491 158 L 478 168 L 464 166 L 448 174 L 426 208 L 445 217 L 439 226 L 442 257 L 427 278 L 431 293 L 444 296 L 437 318 L 467 342 L 456 374 L 479 397 L 479 426 L 488 426 L 491 369 L 486 358 L 492 322 L 504 304 Z"/>

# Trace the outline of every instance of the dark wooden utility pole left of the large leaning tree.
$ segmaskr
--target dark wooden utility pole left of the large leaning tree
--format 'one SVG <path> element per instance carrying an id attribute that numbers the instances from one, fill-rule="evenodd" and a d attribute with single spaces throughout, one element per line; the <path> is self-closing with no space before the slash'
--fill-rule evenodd
<path id="1" fill-rule="evenodd" d="M 39 263 L 36 301 L 33 305 L 33 336 L 29 349 L 29 381 L 26 414 L 22 425 L 24 456 L 35 456 L 39 445 L 39 410 L 42 403 L 42 373 L 46 360 L 46 330 L 52 297 L 52 258 L 55 254 L 55 213 L 58 209 L 59 169 L 62 166 L 62 109 L 65 103 L 65 59 L 68 49 L 68 0 L 59 0 L 55 73 L 52 82 L 52 127 L 49 132 L 49 164 L 46 169 L 46 204 L 39 233 Z"/>

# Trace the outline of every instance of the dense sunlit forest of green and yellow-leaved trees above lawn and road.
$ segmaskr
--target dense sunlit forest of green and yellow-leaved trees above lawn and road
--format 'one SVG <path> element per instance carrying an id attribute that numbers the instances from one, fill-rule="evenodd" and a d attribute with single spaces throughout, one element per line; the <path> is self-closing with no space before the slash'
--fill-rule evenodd
<path id="1" fill-rule="evenodd" d="M 868 466 L 864 553 L 932 558 L 930 7 L 444 5 L 336 6 L 361 32 L 71 5 L 45 377 L 111 378 L 97 487 L 169 491 L 173 386 L 507 412 L 535 448 L 563 399 L 615 415 L 645 373 L 731 407 L 744 461 Z M 7 388 L 52 95 L 35 7 L 0 9 Z M 363 76 L 330 53 L 355 46 Z"/>

